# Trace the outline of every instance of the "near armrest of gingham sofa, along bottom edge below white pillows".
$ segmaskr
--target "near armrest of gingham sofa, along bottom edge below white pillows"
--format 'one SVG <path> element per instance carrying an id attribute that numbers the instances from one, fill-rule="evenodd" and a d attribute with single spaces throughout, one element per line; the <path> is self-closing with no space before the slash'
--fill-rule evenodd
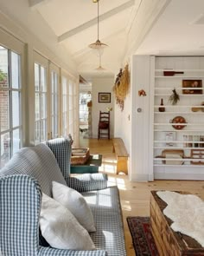
<path id="1" fill-rule="evenodd" d="M 103 250 L 77 251 L 77 250 L 61 250 L 51 247 L 40 247 L 38 256 L 106 256 Z"/>

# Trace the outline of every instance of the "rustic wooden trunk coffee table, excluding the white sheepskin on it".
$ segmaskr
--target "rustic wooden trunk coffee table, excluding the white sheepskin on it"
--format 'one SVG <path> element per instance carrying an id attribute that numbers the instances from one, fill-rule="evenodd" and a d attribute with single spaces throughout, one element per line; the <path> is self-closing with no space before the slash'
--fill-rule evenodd
<path id="1" fill-rule="evenodd" d="M 182 192 L 179 192 L 182 193 Z M 182 193 L 187 194 L 187 193 Z M 150 228 L 155 239 L 156 247 L 160 256 L 194 256 L 204 255 L 202 247 L 193 238 L 182 233 L 174 232 L 170 225 L 172 221 L 164 216 L 163 209 L 166 202 L 151 191 L 150 196 Z M 192 220 L 193 221 L 193 220 Z"/>

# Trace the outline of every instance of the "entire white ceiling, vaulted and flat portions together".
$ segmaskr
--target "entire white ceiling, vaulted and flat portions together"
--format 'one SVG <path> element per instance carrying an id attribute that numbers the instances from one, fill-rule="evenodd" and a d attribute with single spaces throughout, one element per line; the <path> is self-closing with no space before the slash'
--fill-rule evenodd
<path id="1" fill-rule="evenodd" d="M 99 0 L 101 59 L 88 47 L 97 40 L 92 0 L 0 0 L 0 10 L 50 49 L 71 56 L 80 75 L 116 75 L 139 55 L 204 55 L 204 0 Z M 63 50 L 67 52 L 64 52 Z"/>

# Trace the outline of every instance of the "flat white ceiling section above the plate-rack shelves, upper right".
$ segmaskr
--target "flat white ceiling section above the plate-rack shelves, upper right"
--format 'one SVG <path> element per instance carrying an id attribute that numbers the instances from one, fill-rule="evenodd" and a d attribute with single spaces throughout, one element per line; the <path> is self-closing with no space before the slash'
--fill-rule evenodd
<path id="1" fill-rule="evenodd" d="M 204 55 L 204 1 L 172 0 L 137 54 Z"/>

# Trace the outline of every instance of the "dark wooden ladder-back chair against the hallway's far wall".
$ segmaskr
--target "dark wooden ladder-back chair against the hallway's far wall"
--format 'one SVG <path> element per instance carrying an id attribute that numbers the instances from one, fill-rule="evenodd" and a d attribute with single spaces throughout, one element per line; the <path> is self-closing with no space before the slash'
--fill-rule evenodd
<path id="1" fill-rule="evenodd" d="M 99 113 L 98 140 L 102 138 L 110 140 L 110 112 Z"/>

